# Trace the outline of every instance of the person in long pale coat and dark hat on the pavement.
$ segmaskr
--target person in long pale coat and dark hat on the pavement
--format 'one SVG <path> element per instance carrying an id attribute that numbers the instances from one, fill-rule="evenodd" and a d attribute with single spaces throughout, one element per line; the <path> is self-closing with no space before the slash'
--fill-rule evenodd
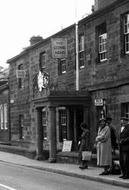
<path id="1" fill-rule="evenodd" d="M 108 175 L 112 165 L 112 147 L 110 128 L 105 119 L 100 120 L 97 142 L 97 165 L 104 168 L 100 175 Z"/>

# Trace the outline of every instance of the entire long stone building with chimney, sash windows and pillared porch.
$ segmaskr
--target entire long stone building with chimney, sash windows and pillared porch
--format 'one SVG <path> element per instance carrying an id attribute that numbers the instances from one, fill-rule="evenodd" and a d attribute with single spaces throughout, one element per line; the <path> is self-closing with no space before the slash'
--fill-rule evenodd
<path id="1" fill-rule="evenodd" d="M 129 112 L 129 2 L 98 0 L 79 21 L 79 90 L 75 38 L 75 25 L 47 39 L 33 37 L 8 60 L 11 141 L 36 149 L 38 159 L 49 150 L 49 161 L 55 161 L 64 140 L 77 151 L 82 121 L 92 149 L 99 118 L 111 116 L 119 129 L 121 115 Z"/>

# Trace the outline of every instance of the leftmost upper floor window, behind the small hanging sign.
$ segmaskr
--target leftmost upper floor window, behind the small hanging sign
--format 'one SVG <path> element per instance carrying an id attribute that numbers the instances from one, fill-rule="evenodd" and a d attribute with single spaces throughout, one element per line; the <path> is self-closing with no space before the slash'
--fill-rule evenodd
<path id="1" fill-rule="evenodd" d="M 24 88 L 24 70 L 23 64 L 18 66 L 18 88 Z"/>

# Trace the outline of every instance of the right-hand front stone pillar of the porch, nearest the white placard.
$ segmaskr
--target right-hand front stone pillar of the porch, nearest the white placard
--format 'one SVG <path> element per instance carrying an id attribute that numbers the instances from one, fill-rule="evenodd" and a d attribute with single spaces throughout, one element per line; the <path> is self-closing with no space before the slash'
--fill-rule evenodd
<path id="1" fill-rule="evenodd" d="M 56 162 L 56 108 L 49 107 L 49 162 Z"/>

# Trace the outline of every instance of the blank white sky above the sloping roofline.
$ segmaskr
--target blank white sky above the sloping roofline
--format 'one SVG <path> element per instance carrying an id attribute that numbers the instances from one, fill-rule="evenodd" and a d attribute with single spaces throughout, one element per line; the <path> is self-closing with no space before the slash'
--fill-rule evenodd
<path id="1" fill-rule="evenodd" d="M 7 60 L 29 46 L 32 36 L 55 34 L 90 14 L 93 4 L 94 0 L 0 0 L 0 66 L 7 68 Z"/>

